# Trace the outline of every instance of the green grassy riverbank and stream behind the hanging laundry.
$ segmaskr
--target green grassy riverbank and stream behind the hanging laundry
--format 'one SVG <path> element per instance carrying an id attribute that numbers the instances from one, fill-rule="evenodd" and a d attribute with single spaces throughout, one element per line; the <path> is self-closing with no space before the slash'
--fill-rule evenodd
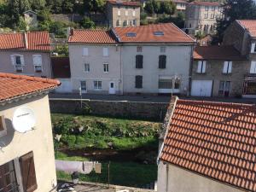
<path id="1" fill-rule="evenodd" d="M 102 173 L 81 181 L 148 188 L 157 179 L 156 157 L 161 124 L 145 120 L 52 114 L 57 160 L 99 161 Z M 60 180 L 71 180 L 57 172 Z"/>

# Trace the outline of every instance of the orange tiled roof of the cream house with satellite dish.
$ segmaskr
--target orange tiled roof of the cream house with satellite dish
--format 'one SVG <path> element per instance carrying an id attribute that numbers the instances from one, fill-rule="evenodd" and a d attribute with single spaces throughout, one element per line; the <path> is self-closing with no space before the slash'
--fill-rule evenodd
<path id="1" fill-rule="evenodd" d="M 15 99 L 17 96 L 26 96 L 42 90 L 54 89 L 60 84 L 60 81 L 55 79 L 0 73 L 0 102 Z"/>

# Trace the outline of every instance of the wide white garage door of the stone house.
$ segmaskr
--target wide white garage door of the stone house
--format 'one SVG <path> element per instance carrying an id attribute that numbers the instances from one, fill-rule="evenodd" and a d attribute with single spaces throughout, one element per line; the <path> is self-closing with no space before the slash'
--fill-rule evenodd
<path id="1" fill-rule="evenodd" d="M 212 96 L 212 80 L 193 80 L 191 96 Z"/>

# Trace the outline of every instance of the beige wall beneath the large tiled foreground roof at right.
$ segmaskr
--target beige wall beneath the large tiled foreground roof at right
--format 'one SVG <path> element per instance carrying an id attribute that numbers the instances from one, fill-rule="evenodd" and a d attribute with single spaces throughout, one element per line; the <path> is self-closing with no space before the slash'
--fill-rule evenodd
<path id="1" fill-rule="evenodd" d="M 158 166 L 158 192 L 242 192 L 230 185 L 188 172 L 177 166 L 167 166 L 160 161 Z M 168 184 L 166 184 L 168 181 Z"/>

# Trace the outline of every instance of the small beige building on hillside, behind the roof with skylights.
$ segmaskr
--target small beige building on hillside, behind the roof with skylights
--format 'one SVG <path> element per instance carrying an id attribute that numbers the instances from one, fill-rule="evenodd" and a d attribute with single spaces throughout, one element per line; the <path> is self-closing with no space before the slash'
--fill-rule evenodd
<path id="1" fill-rule="evenodd" d="M 140 26 L 140 3 L 108 0 L 107 20 L 110 27 Z"/>

